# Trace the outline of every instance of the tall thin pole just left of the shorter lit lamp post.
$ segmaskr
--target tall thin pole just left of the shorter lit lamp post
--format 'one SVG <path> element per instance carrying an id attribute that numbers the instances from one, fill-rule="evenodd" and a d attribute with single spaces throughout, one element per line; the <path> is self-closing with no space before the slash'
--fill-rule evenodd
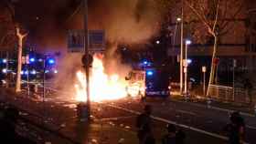
<path id="1" fill-rule="evenodd" d="M 184 26 L 184 12 L 183 12 L 183 0 L 181 1 L 181 27 L 180 27 L 180 63 L 179 63 L 179 75 L 180 75 L 180 89 L 179 93 L 182 95 L 183 91 L 183 26 Z"/>

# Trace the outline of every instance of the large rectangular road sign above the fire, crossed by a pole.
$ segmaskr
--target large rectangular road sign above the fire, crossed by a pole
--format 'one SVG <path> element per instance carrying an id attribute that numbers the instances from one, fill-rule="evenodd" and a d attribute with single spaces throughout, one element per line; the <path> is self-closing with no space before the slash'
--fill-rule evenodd
<path id="1" fill-rule="evenodd" d="M 103 30 L 89 31 L 89 52 L 101 52 L 105 49 L 105 32 Z M 68 51 L 84 53 L 84 31 L 69 30 Z"/>

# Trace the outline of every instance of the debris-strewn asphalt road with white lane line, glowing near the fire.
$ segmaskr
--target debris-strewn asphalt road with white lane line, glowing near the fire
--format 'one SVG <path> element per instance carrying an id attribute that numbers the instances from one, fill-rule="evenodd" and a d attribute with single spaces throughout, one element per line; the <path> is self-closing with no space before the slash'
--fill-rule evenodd
<path id="1" fill-rule="evenodd" d="M 60 130 L 64 134 L 70 135 L 67 133 L 69 131 L 67 128 L 77 119 L 75 103 L 61 100 L 66 99 L 61 98 L 63 95 L 56 95 L 58 94 L 50 95 L 50 98 L 47 98 L 47 102 L 44 103 L 33 98 L 5 98 L 4 100 L 12 101 L 16 106 L 25 108 L 29 113 L 43 117 L 43 119 L 37 117 L 31 117 L 31 119 L 40 122 L 44 120 L 51 129 Z M 166 124 L 175 123 L 179 129 L 186 132 L 186 142 L 189 144 L 228 143 L 223 131 L 224 126 L 229 122 L 228 112 L 162 99 L 149 99 L 146 103 L 154 107 L 154 131 L 155 138 L 159 142 L 165 134 Z M 92 103 L 91 115 L 104 124 L 128 130 L 135 137 L 135 118 L 139 112 L 143 111 L 144 104 L 133 98 Z M 256 143 L 256 138 L 254 138 L 256 134 L 255 117 L 244 116 L 244 118 L 248 126 L 246 141 L 251 144 Z"/>

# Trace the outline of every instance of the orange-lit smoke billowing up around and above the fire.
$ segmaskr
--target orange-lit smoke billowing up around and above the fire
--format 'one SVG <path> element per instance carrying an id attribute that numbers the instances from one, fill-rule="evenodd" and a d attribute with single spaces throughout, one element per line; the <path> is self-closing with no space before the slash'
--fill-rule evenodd
<path id="1" fill-rule="evenodd" d="M 106 41 L 110 44 L 106 47 L 104 57 L 105 72 L 109 74 L 118 72 L 124 77 L 131 68 L 121 64 L 120 56 L 115 53 L 118 45 L 146 44 L 149 38 L 157 35 L 162 13 L 157 9 L 155 0 L 91 0 L 88 19 L 89 29 L 105 30 Z M 78 14 L 69 19 L 67 27 L 67 29 L 83 28 L 81 8 Z M 67 51 L 66 48 L 63 50 Z M 72 54 L 64 55 L 62 63 L 64 65 L 61 64 L 63 67 L 60 66 L 59 71 L 65 72 L 65 75 L 74 75 L 75 68 L 80 64 L 80 58 Z M 70 73 L 71 71 L 73 72 Z M 59 76 L 58 83 L 65 75 Z"/>

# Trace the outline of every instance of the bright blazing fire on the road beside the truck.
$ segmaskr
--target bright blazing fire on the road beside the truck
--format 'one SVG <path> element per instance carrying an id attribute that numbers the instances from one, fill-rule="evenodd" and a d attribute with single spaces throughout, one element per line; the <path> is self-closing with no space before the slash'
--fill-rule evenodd
<path id="1" fill-rule="evenodd" d="M 77 78 L 79 80 L 79 84 L 75 85 L 76 100 L 86 101 L 86 77 L 81 71 L 79 71 L 77 72 Z M 128 83 L 117 73 L 107 75 L 104 72 L 101 55 L 93 56 L 90 76 L 90 98 L 92 101 L 125 98 L 128 94 L 127 86 Z"/>

